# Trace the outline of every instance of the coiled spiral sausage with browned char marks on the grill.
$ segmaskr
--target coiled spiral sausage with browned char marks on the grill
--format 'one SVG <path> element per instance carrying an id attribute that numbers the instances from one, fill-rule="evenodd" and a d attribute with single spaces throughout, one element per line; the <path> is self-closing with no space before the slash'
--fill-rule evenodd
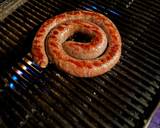
<path id="1" fill-rule="evenodd" d="M 91 41 L 67 41 L 76 32 L 91 36 Z M 43 23 L 33 40 L 32 56 L 42 68 L 49 59 L 69 74 L 94 77 L 119 61 L 121 46 L 120 34 L 106 16 L 93 11 L 70 11 Z"/>

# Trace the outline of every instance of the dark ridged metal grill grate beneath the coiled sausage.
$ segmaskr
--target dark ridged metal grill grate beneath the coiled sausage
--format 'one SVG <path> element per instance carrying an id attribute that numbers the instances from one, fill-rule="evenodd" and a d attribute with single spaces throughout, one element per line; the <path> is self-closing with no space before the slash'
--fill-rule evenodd
<path id="1" fill-rule="evenodd" d="M 29 0 L 0 26 L 0 127 L 141 128 L 160 97 L 159 0 Z M 123 41 L 120 63 L 95 78 L 36 65 L 35 32 L 68 10 L 108 16 Z"/>

